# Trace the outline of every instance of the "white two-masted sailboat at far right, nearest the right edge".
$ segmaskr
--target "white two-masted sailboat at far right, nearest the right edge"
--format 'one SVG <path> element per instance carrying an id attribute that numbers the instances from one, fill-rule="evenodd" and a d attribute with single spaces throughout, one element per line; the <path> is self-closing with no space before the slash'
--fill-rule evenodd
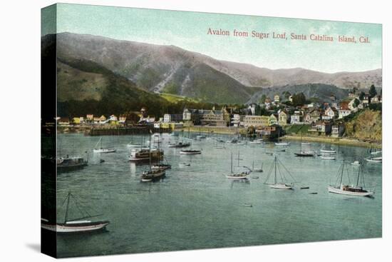
<path id="1" fill-rule="evenodd" d="M 336 184 L 335 186 L 330 185 L 328 187 L 329 193 L 339 193 L 341 195 L 349 195 L 349 196 L 371 196 L 374 194 L 374 192 L 371 191 L 366 191 L 363 189 L 362 186 L 359 186 L 359 183 L 363 183 L 363 186 L 365 184 L 363 174 L 362 174 L 362 168 L 361 165 L 358 168 L 358 174 L 356 176 L 356 184 L 355 185 L 345 185 L 343 183 L 343 175 L 344 175 L 344 168 L 346 167 L 346 173 L 347 177 L 349 178 L 349 170 L 346 166 L 346 163 L 342 163 L 339 171 L 338 171 L 338 176 L 336 177 Z"/>

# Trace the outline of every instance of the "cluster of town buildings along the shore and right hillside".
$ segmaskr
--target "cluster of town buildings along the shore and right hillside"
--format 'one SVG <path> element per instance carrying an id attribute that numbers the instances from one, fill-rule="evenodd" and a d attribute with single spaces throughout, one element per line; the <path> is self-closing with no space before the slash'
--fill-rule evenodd
<path id="1" fill-rule="evenodd" d="M 303 104 L 292 106 L 292 96 L 287 101 L 282 101 L 279 94 L 272 99 L 265 98 L 263 103 L 249 104 L 247 107 L 222 106 L 221 109 L 213 107 L 206 109 L 185 108 L 182 114 L 165 114 L 160 119 L 148 116 L 147 109 L 142 108 L 135 112 L 138 121 L 130 121 L 125 115 L 74 117 L 73 119 L 58 118 L 59 125 L 109 125 L 127 126 L 128 124 L 150 124 L 155 128 L 178 129 L 183 126 L 215 126 L 215 127 L 242 127 L 257 129 L 260 133 L 268 134 L 277 130 L 277 127 L 287 125 L 309 125 L 308 132 L 319 136 L 342 136 L 344 124 L 342 119 L 353 114 L 359 109 L 364 109 L 370 104 L 382 103 L 381 96 L 368 94 L 354 94 L 343 101 L 337 101 L 334 95 L 330 96 L 331 102 Z M 289 103 L 287 103 L 289 102 Z"/>

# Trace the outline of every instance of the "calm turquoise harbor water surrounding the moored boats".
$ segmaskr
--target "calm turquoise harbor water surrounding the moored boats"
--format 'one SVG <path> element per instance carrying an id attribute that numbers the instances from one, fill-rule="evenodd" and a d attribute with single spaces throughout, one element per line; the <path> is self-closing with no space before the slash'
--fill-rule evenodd
<path id="1" fill-rule="evenodd" d="M 196 134 L 195 134 L 196 135 Z M 90 213 L 103 213 L 106 232 L 77 236 L 58 236 L 58 256 L 91 256 L 115 253 L 140 253 L 185 249 L 252 246 L 274 243 L 327 241 L 381 237 L 381 164 L 366 163 L 363 173 L 374 198 L 350 197 L 328 193 L 341 161 L 354 161 L 367 156 L 367 148 L 333 146 L 336 161 L 296 158 L 299 143 L 292 142 L 286 152 L 276 152 L 295 177 L 294 190 L 276 190 L 264 184 L 274 156 L 273 144 L 214 148 L 210 140 L 193 141 L 202 148 L 201 155 L 180 156 L 179 148 L 168 148 L 175 137 L 164 134 L 161 147 L 172 169 L 163 181 L 140 183 L 140 173 L 148 168 L 128 161 L 127 143 L 131 136 L 104 136 L 103 145 L 116 153 L 94 155 L 92 149 L 99 137 L 83 134 L 59 134 L 58 153 L 84 154 L 89 164 L 80 171 L 58 175 L 58 221 L 68 191 L 79 198 Z M 229 136 L 226 136 L 229 139 Z M 225 138 L 225 139 L 226 139 Z M 141 136 L 134 136 L 133 141 Z M 312 143 L 319 150 L 321 143 Z M 231 153 L 237 166 L 259 167 L 264 173 L 252 173 L 249 181 L 229 181 Z M 99 160 L 105 160 L 99 163 Z M 190 167 L 180 168 L 178 163 Z M 356 167 L 348 166 L 351 181 Z M 309 189 L 299 189 L 309 186 Z M 316 192 L 317 194 L 309 194 Z M 252 203 L 253 207 L 244 206 Z M 71 202 L 71 218 L 78 209 Z"/>

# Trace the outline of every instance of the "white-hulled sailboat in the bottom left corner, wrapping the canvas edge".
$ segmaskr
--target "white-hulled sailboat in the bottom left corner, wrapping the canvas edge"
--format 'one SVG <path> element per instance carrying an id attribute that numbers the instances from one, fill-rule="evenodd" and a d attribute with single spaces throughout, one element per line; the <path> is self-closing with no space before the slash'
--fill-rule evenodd
<path id="1" fill-rule="evenodd" d="M 69 219 L 68 214 L 69 214 L 69 204 L 71 201 L 71 198 L 73 198 L 73 201 L 76 204 L 76 207 L 78 208 L 79 211 L 82 213 L 81 218 L 76 218 L 76 219 Z M 66 216 L 64 218 L 63 223 L 50 223 L 47 219 L 41 218 L 41 228 L 46 229 L 48 231 L 55 231 L 57 233 L 81 233 L 81 232 L 89 232 L 89 231 L 98 231 L 100 229 L 105 228 L 108 226 L 110 223 L 109 221 L 88 221 L 86 218 L 93 218 L 96 216 L 102 216 L 102 215 L 96 215 L 96 216 L 91 216 L 90 213 L 87 211 L 83 211 L 81 208 L 81 205 L 76 201 L 75 196 L 71 193 L 71 191 L 68 192 L 68 196 L 64 200 L 63 203 L 67 202 L 66 206 Z"/>

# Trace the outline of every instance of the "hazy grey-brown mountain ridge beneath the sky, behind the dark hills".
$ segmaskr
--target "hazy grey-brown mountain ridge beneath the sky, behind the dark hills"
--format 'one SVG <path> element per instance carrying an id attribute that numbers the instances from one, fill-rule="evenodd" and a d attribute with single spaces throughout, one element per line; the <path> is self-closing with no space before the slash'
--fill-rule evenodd
<path id="1" fill-rule="evenodd" d="M 342 86 L 344 89 L 363 89 L 370 84 L 382 86 L 381 69 L 334 74 L 302 68 L 267 69 L 217 60 L 173 45 L 145 44 L 91 34 L 60 33 L 41 39 L 45 42 L 51 36 L 56 36 L 60 61 L 91 61 L 128 79 L 135 84 L 131 85 L 133 88 L 212 103 L 243 104 L 263 89 L 282 86 L 326 84 L 339 89 Z"/>

